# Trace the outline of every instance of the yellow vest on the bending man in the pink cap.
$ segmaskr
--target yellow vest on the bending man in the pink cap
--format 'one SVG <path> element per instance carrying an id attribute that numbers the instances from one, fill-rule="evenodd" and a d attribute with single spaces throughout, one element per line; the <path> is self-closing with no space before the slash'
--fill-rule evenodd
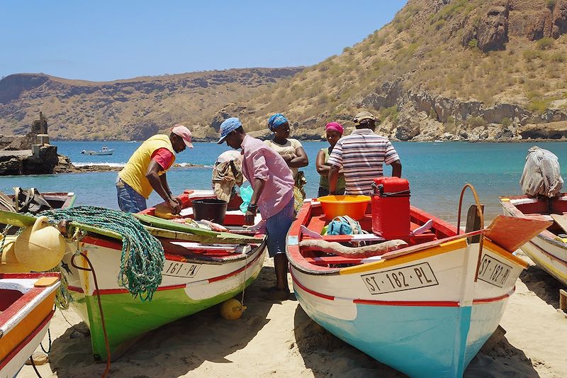
<path id="1" fill-rule="evenodd" d="M 124 168 L 118 173 L 123 182 L 130 185 L 132 189 L 144 196 L 145 199 L 152 194 L 153 190 L 152 185 L 146 178 L 147 167 L 150 165 L 153 153 L 159 148 L 167 148 L 167 150 L 171 151 L 175 161 L 175 151 L 169 136 L 162 134 L 154 135 L 135 150 Z M 165 171 L 159 172 L 159 174 L 161 175 L 163 172 Z"/>

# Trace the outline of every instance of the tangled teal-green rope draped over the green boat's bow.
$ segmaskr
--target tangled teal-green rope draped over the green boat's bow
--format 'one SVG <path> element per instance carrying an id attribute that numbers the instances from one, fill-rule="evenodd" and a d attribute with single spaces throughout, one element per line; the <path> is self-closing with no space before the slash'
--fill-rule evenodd
<path id="1" fill-rule="evenodd" d="M 69 209 L 43 211 L 51 224 L 74 221 L 114 231 L 122 236 L 122 255 L 118 285 L 135 298 L 151 301 L 162 282 L 164 249 L 159 240 L 145 230 L 130 213 L 97 206 L 77 206 Z"/>

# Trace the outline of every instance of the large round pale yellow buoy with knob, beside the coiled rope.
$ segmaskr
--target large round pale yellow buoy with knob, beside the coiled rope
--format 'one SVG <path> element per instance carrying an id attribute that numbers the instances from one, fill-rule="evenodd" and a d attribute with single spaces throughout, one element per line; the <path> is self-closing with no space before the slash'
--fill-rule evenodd
<path id="1" fill-rule="evenodd" d="M 34 272 L 45 272 L 59 264 L 65 254 L 65 240 L 59 230 L 40 216 L 33 226 L 18 235 L 14 244 L 16 259 Z"/>

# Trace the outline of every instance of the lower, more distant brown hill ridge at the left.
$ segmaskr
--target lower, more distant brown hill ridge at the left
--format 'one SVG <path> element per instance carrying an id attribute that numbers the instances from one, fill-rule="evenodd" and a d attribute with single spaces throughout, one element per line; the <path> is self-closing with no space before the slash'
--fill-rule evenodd
<path id="1" fill-rule="evenodd" d="M 302 68 L 245 69 L 115 82 L 86 82 L 46 74 L 0 80 L 0 133 L 27 133 L 43 111 L 60 140 L 144 140 L 175 123 L 206 138 L 213 116 L 229 102 L 256 96 Z M 203 127 L 203 125 L 205 127 Z M 212 130 L 212 131 L 211 131 Z"/>

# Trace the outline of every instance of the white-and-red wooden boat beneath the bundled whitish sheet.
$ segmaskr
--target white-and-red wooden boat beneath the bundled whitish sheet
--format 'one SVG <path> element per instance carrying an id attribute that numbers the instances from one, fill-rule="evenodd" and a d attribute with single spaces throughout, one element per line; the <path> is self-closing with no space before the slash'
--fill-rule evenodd
<path id="1" fill-rule="evenodd" d="M 537 266 L 567 285 L 567 194 L 502 196 L 500 205 L 507 216 L 553 222 L 520 248 Z"/>

